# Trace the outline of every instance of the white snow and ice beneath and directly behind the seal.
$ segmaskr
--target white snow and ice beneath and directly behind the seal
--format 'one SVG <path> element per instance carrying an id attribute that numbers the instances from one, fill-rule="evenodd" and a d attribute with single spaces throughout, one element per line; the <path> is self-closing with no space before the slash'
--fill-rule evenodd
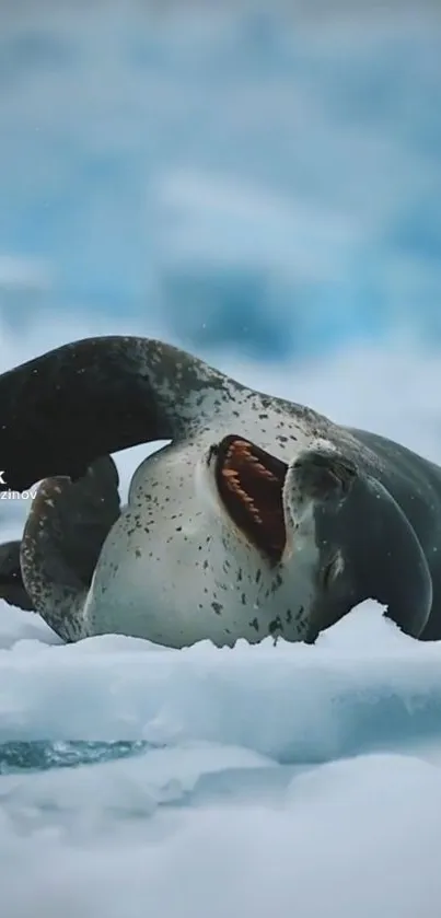
<path id="1" fill-rule="evenodd" d="M 2 364 L 88 330 L 4 332 Z M 409 342 L 289 373 L 222 365 L 440 458 L 440 362 Z M 144 452 L 117 456 L 123 491 Z M 4 537 L 25 510 L 0 506 Z M 234 650 L 62 646 L 37 616 L 0 612 L 8 918 L 36 904 L 49 918 L 438 918 L 440 644 L 372 602 L 315 647 Z"/>

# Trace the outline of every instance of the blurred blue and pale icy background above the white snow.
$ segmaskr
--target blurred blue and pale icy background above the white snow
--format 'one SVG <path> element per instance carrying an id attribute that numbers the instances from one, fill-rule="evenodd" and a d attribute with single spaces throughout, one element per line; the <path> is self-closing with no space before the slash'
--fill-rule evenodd
<path id="1" fill-rule="evenodd" d="M 280 362 L 441 345 L 439 3 L 0 11 L 3 327 Z"/>

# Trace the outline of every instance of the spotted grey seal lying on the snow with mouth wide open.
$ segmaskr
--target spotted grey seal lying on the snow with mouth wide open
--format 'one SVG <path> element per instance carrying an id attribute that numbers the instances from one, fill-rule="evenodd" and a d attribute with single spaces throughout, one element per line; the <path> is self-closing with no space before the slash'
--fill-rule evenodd
<path id="1" fill-rule="evenodd" d="M 315 641 L 373 599 L 441 637 L 441 468 L 159 340 L 65 345 L 0 376 L 0 487 L 39 481 L 0 595 L 65 640 Z M 130 483 L 111 454 L 170 441 Z"/>

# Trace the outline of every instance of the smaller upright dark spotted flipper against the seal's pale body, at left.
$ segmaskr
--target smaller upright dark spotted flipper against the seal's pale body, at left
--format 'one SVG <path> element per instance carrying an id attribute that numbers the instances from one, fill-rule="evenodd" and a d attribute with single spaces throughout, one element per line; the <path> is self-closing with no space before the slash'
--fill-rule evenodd
<path id="1" fill-rule="evenodd" d="M 33 607 L 65 641 L 84 637 L 83 607 L 103 543 L 119 516 L 109 456 L 78 481 L 46 478 L 24 527 L 20 563 Z"/>

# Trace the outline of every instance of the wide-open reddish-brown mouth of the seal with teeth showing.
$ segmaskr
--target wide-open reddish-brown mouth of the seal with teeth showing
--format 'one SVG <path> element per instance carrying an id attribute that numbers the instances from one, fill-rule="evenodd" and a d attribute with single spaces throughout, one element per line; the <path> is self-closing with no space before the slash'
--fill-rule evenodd
<path id="1" fill-rule="evenodd" d="M 217 449 L 216 481 L 231 519 L 247 538 L 277 563 L 285 528 L 282 487 L 288 466 L 248 440 L 225 437 Z"/>

